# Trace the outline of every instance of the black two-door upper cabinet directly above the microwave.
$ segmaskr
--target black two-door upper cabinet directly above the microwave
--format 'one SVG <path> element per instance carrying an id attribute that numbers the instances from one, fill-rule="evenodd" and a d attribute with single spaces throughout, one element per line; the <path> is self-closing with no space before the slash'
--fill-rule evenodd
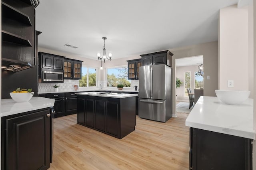
<path id="1" fill-rule="evenodd" d="M 41 61 L 42 68 L 45 69 L 58 69 L 63 70 L 64 58 L 52 54 L 39 52 L 39 60 Z"/>

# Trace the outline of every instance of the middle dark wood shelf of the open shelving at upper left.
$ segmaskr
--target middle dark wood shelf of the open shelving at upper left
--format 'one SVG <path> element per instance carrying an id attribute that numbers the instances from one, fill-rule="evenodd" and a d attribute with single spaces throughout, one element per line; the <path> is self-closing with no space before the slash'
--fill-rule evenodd
<path id="1" fill-rule="evenodd" d="M 20 45 L 26 45 L 32 47 L 31 43 L 28 39 L 18 36 L 16 34 L 12 34 L 10 32 L 2 30 L 2 41 L 17 43 Z"/>

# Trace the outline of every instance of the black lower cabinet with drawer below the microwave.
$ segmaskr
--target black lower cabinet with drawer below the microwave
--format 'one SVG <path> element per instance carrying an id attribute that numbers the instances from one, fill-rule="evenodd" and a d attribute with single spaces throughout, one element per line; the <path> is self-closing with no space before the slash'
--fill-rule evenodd
<path id="1" fill-rule="evenodd" d="M 65 114 L 65 94 L 64 93 L 50 93 L 46 94 L 47 98 L 54 99 L 54 115 L 53 117 L 62 117 Z"/>

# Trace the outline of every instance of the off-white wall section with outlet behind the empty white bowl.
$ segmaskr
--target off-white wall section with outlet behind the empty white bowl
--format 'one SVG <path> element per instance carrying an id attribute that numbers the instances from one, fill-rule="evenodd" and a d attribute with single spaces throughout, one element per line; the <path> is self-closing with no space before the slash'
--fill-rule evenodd
<path id="1" fill-rule="evenodd" d="M 249 90 L 248 62 L 248 8 L 220 9 L 219 89 Z M 228 80 L 234 80 L 234 88 L 228 88 Z"/>

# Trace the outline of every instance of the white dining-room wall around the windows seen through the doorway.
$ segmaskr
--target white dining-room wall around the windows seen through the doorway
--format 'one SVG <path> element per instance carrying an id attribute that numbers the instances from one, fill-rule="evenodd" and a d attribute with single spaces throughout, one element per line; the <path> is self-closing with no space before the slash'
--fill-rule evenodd
<path id="1" fill-rule="evenodd" d="M 182 85 L 176 89 L 176 95 L 178 95 L 177 100 L 179 101 L 189 101 L 188 97 L 184 96 L 184 73 L 186 71 L 190 71 L 191 73 L 191 81 L 190 81 L 190 89 L 194 92 L 194 80 L 195 80 L 195 72 L 198 71 L 198 65 L 191 65 L 191 66 L 183 66 L 183 67 L 176 67 L 176 77 L 182 81 Z"/>

